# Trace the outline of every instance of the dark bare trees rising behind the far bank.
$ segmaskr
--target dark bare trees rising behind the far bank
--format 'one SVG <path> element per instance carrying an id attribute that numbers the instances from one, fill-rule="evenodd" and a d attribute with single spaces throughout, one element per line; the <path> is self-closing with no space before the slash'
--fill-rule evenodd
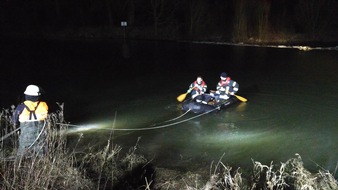
<path id="1" fill-rule="evenodd" d="M 336 0 L 5 0 L 0 24 L 7 32 L 121 35 L 126 21 L 130 36 L 157 39 L 320 39 L 337 32 L 337 8 Z"/>

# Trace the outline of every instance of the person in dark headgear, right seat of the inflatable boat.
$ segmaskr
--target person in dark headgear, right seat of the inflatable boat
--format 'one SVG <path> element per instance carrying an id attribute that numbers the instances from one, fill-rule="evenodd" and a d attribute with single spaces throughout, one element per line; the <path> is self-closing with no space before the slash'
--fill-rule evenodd
<path id="1" fill-rule="evenodd" d="M 220 75 L 221 80 L 217 83 L 216 92 L 211 92 L 217 102 L 221 102 L 230 98 L 231 95 L 235 95 L 239 90 L 239 84 L 227 76 L 225 72 Z"/>

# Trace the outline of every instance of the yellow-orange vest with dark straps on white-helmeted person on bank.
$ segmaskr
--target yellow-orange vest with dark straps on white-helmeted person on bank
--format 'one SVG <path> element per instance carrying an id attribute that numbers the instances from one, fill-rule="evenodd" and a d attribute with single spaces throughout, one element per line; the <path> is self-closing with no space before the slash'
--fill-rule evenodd
<path id="1" fill-rule="evenodd" d="M 23 104 L 25 108 L 19 115 L 20 122 L 42 121 L 47 118 L 48 106 L 45 102 L 26 100 Z"/>

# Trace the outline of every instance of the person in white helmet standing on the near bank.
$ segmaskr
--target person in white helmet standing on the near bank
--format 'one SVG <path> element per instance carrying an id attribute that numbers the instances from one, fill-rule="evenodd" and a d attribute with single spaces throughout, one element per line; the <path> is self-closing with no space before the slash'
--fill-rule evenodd
<path id="1" fill-rule="evenodd" d="M 36 85 L 28 85 L 25 101 L 19 104 L 13 113 L 13 124 L 20 126 L 19 147 L 17 156 L 30 157 L 44 153 L 43 129 L 48 115 L 47 103 L 41 101 L 41 89 Z"/>

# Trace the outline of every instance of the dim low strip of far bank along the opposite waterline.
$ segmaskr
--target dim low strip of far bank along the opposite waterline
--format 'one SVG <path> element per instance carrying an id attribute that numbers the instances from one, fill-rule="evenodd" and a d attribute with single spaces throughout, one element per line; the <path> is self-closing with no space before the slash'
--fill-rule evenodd
<path id="1" fill-rule="evenodd" d="M 7 32 L 6 32 L 7 31 Z M 163 31 L 168 33 L 168 31 Z M 216 43 L 227 45 L 248 46 L 309 46 L 324 45 L 325 47 L 338 48 L 336 32 L 326 33 L 323 36 L 311 36 L 297 33 L 266 33 L 260 37 L 234 37 L 228 34 L 208 34 L 203 36 L 179 36 L 179 35 L 154 35 L 151 28 L 122 27 L 81 27 L 56 29 L 53 27 L 40 27 L 37 30 L 18 30 L 6 28 L 0 33 L 0 39 L 41 39 L 41 40 L 149 40 L 149 41 L 179 41 Z"/>

